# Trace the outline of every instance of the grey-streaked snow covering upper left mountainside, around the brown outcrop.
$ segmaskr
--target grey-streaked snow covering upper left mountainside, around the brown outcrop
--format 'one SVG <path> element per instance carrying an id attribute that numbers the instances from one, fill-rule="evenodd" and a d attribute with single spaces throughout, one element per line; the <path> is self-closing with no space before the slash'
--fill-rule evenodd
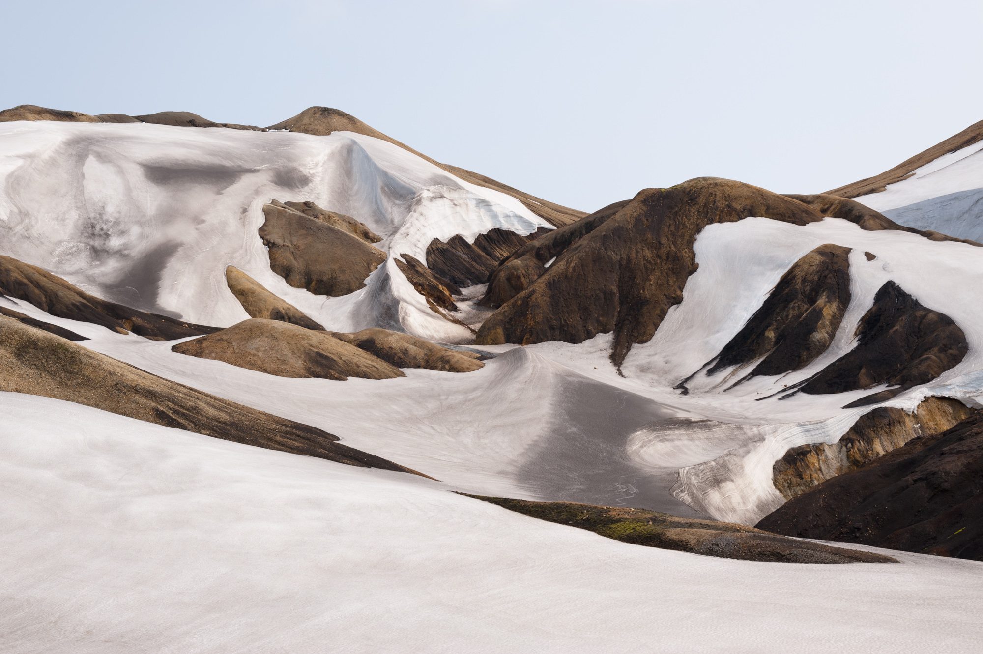
<path id="1" fill-rule="evenodd" d="M 367 287 L 326 299 L 269 268 L 258 230 L 270 199 L 313 200 L 366 223 L 389 258 Z M 328 329 L 401 329 L 447 342 L 470 332 L 434 313 L 399 272 L 433 239 L 550 225 L 515 198 L 353 133 L 146 124 L 0 125 L 0 253 L 101 298 L 217 326 L 248 317 L 225 285 L 235 265 Z"/>

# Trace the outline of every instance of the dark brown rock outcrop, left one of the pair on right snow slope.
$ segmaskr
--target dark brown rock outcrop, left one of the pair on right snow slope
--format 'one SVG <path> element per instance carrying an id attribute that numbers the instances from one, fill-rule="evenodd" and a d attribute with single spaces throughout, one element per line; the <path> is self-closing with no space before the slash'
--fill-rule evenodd
<path id="1" fill-rule="evenodd" d="M 779 375 L 826 352 L 850 303 L 849 253 L 826 244 L 796 261 L 707 373 L 761 358 L 748 376 Z"/>

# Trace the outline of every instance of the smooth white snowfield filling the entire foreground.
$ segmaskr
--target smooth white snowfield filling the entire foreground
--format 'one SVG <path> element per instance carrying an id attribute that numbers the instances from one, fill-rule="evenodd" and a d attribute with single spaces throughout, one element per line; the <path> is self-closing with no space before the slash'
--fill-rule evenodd
<path id="1" fill-rule="evenodd" d="M 0 646 L 978 652 L 983 565 L 618 543 L 413 475 L 0 393 Z"/>

